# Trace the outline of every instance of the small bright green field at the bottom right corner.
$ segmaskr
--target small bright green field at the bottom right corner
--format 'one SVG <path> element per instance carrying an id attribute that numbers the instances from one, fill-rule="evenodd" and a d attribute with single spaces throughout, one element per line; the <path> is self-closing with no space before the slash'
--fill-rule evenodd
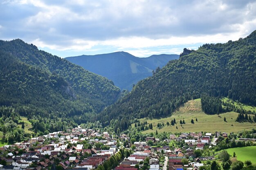
<path id="1" fill-rule="evenodd" d="M 247 146 L 242 148 L 229 148 L 227 149 L 229 155 L 233 156 L 236 153 L 236 159 L 239 161 L 250 160 L 252 163 L 256 163 L 256 146 Z"/>

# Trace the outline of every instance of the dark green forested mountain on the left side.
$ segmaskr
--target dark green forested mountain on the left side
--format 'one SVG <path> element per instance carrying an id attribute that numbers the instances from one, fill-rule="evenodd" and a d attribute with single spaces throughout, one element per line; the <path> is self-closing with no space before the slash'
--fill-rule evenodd
<path id="1" fill-rule="evenodd" d="M 32 125 L 42 132 L 86 123 L 121 93 L 105 77 L 19 39 L 0 40 L 0 80 L 0 106 L 39 120 Z"/>

